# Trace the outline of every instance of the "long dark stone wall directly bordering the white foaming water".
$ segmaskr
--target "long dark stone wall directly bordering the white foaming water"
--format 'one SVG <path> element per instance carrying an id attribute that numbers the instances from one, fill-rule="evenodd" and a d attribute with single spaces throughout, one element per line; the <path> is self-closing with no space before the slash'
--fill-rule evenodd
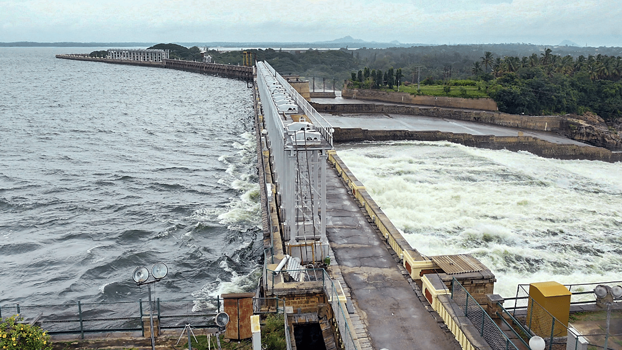
<path id="1" fill-rule="evenodd" d="M 576 144 L 557 144 L 540 140 L 532 136 L 491 136 L 469 135 L 463 133 L 443 133 L 441 131 L 408 130 L 366 130 L 361 128 L 335 128 L 335 142 L 360 141 L 450 141 L 465 146 L 488 149 L 508 149 L 509 151 L 527 151 L 544 158 L 587 159 L 606 162 L 622 161 L 622 153 L 612 153 L 608 149 Z"/>

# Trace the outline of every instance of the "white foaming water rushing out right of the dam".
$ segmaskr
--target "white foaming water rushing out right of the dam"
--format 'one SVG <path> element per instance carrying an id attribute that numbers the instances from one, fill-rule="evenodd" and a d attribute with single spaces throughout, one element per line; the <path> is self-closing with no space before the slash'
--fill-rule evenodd
<path id="1" fill-rule="evenodd" d="M 417 141 L 338 154 L 412 247 L 473 253 L 496 275 L 495 293 L 622 279 L 620 163 Z"/>

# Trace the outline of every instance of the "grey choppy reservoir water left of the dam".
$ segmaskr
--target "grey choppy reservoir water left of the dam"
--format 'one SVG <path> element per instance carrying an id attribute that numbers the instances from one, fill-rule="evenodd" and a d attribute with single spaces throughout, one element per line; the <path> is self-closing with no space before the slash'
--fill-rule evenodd
<path id="1" fill-rule="evenodd" d="M 261 256 L 251 90 L 0 49 L 0 305 L 249 290 Z"/>

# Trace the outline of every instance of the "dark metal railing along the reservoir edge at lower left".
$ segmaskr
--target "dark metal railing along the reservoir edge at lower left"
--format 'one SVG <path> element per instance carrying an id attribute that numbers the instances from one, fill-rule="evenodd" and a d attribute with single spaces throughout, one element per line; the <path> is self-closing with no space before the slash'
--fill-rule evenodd
<path id="1" fill-rule="evenodd" d="M 156 300 L 154 318 L 160 328 L 183 328 L 215 325 L 214 316 L 221 311 L 221 300 Z M 37 322 L 50 334 L 97 333 L 112 331 L 142 331 L 142 318 L 149 316 L 147 301 L 116 303 L 72 303 L 62 305 L 0 305 L 0 318 L 19 315 L 26 321 Z"/>

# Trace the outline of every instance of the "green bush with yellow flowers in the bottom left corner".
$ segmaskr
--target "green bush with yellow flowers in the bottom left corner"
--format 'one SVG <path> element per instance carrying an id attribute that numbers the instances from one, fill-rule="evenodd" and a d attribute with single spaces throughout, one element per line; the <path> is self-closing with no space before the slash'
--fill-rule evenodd
<path id="1" fill-rule="evenodd" d="M 51 350 L 50 336 L 37 326 L 20 323 L 17 315 L 0 323 L 2 350 Z"/>

